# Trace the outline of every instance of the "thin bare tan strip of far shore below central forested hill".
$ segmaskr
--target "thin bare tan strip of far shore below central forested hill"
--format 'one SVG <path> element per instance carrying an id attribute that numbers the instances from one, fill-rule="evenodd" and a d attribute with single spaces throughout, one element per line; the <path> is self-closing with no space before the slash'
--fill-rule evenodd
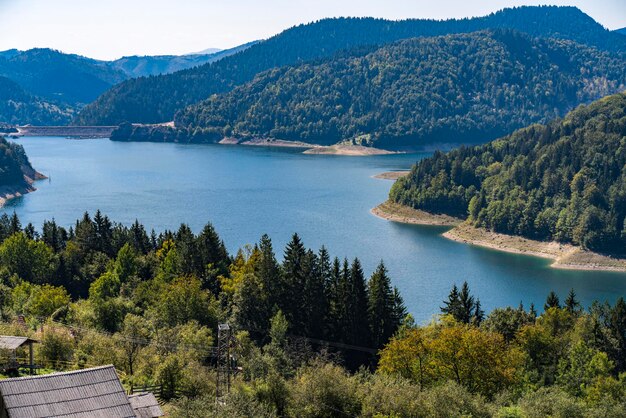
<path id="1" fill-rule="evenodd" d="M 283 139 L 253 138 L 240 140 L 237 138 L 223 138 L 218 144 L 244 145 L 251 147 L 279 147 L 279 148 L 302 148 L 303 154 L 314 155 L 343 155 L 343 156 L 368 156 L 398 154 L 396 151 L 388 151 L 362 145 L 317 145 L 301 141 L 286 141 Z"/>

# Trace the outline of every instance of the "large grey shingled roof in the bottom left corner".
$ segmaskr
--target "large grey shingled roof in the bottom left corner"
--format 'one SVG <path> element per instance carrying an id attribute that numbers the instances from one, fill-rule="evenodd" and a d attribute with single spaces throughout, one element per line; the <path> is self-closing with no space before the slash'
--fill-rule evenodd
<path id="1" fill-rule="evenodd" d="M 9 417 L 135 417 L 113 366 L 0 380 Z"/>

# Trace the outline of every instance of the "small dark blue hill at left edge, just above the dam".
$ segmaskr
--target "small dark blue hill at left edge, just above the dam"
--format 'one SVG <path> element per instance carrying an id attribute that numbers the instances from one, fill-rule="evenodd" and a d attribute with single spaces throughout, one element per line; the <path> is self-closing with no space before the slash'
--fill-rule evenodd
<path id="1" fill-rule="evenodd" d="M 72 116 L 71 107 L 35 97 L 14 81 L 0 77 L 0 122 L 64 125 Z"/>

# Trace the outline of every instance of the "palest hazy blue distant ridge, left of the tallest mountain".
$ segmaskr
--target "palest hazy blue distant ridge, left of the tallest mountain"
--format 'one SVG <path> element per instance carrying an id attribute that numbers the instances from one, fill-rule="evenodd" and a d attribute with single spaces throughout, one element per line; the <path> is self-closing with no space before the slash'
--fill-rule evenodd
<path id="1" fill-rule="evenodd" d="M 126 78 L 145 77 L 150 75 L 170 74 L 187 68 L 218 61 L 222 58 L 243 51 L 256 42 L 225 50 L 209 48 L 195 54 L 187 55 L 157 55 L 131 56 L 108 62 L 108 66 L 122 71 Z M 212 51 L 212 52 L 211 52 Z"/>

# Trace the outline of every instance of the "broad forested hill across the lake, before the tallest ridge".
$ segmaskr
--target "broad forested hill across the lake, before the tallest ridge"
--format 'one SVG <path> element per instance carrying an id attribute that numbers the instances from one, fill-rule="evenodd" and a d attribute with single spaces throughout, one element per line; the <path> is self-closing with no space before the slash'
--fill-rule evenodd
<path id="1" fill-rule="evenodd" d="M 485 142 L 626 86 L 626 60 L 510 30 L 414 38 L 262 73 L 176 118 L 208 137 L 383 148 Z"/>

